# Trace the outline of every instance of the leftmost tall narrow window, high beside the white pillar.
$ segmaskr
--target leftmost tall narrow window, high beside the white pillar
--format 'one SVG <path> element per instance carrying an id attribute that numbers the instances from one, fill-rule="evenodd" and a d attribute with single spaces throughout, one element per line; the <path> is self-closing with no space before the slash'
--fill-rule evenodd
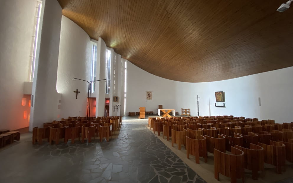
<path id="1" fill-rule="evenodd" d="M 36 4 L 34 31 L 32 35 L 32 45 L 31 45 L 31 53 L 30 53 L 30 62 L 31 62 L 30 81 L 33 81 L 34 73 L 35 73 L 35 61 L 36 61 L 36 54 L 37 54 L 36 50 L 37 50 L 37 43 L 38 43 L 41 10 L 42 10 L 42 1 L 38 0 Z"/>

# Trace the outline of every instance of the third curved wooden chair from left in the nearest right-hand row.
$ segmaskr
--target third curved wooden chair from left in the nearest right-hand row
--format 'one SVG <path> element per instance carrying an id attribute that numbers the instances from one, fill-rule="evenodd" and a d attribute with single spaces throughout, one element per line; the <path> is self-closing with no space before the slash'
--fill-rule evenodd
<path id="1" fill-rule="evenodd" d="M 285 157 L 286 157 L 286 146 L 283 143 L 270 141 L 270 144 L 258 143 L 259 146 L 264 149 L 264 162 L 276 166 L 276 172 L 278 174 L 282 173 L 282 166 L 284 171 L 285 167 Z"/>

